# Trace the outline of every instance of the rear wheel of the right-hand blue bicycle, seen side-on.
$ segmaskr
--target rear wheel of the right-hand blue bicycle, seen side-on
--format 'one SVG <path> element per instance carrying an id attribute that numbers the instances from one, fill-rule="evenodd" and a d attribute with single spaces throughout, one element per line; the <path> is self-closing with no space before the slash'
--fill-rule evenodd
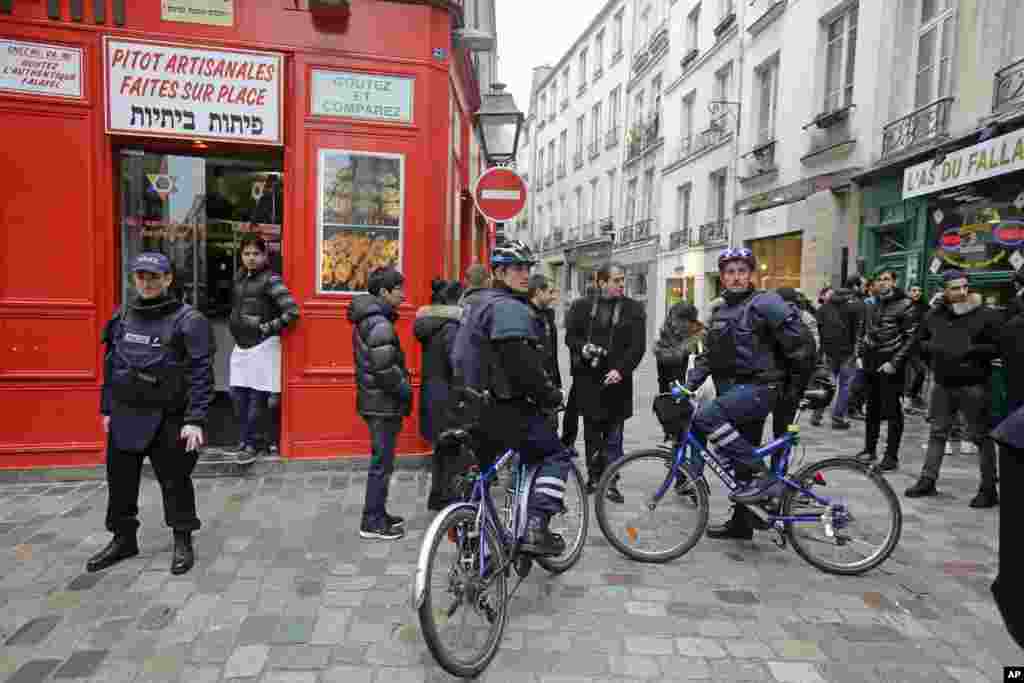
<path id="1" fill-rule="evenodd" d="M 811 463 L 794 479 L 830 505 L 795 488 L 782 496 L 780 514 L 822 515 L 821 521 L 790 522 L 793 549 L 822 571 L 859 574 L 879 566 L 892 554 L 903 528 L 899 498 L 878 471 L 845 458 Z M 826 520 L 828 523 L 826 523 Z"/>

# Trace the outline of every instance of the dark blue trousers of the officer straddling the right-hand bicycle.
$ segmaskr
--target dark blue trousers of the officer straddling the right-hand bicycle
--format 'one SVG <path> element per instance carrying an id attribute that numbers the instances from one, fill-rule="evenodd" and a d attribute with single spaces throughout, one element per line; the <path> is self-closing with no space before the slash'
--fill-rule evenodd
<path id="1" fill-rule="evenodd" d="M 779 389 L 775 384 L 734 384 L 697 411 L 693 432 L 727 462 L 737 465 L 737 478 L 749 479 L 752 471 L 764 469 L 754 457 L 764 423 L 775 410 Z M 739 467 L 742 466 L 742 467 Z"/>

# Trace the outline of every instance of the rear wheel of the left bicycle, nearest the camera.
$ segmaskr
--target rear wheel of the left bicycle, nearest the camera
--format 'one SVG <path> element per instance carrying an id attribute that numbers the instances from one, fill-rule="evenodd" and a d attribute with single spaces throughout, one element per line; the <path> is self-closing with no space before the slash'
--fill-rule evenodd
<path id="1" fill-rule="evenodd" d="M 442 513 L 443 514 L 443 513 Z M 489 525 L 482 529 L 488 549 L 489 580 L 504 561 L 504 551 Z M 506 572 L 484 587 L 480 577 L 480 529 L 474 508 L 446 513 L 430 544 L 420 628 L 437 663 L 453 676 L 479 675 L 501 645 L 508 618 Z"/>

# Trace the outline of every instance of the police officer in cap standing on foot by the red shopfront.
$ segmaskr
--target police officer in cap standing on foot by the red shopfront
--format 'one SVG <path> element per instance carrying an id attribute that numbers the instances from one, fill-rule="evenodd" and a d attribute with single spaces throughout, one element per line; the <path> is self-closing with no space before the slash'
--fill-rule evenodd
<path id="1" fill-rule="evenodd" d="M 214 341 L 209 321 L 168 293 L 172 280 L 166 256 L 137 256 L 137 297 L 103 329 L 99 412 L 109 434 L 106 528 L 114 539 L 89 559 L 89 571 L 138 555 L 138 489 L 147 457 L 174 532 L 171 573 L 184 573 L 195 563 L 191 533 L 200 521 L 191 472 L 213 398 Z"/>

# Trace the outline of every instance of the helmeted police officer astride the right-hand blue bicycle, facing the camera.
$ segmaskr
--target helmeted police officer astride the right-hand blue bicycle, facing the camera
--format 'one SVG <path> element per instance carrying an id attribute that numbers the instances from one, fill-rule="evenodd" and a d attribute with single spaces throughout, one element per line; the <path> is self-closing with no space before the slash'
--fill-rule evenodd
<path id="1" fill-rule="evenodd" d="M 799 400 L 814 368 L 799 313 L 778 294 L 754 288 L 756 265 L 745 248 L 726 249 L 719 257 L 724 303 L 712 312 L 705 351 L 686 382 L 695 391 L 714 378 L 718 398 L 697 413 L 692 431 L 715 455 L 731 461 L 736 479 L 746 482 L 729 497 L 736 504 L 732 517 L 708 529 L 713 539 L 753 538 L 753 513 L 745 506 L 776 495 L 754 449 L 766 418 L 780 400 Z"/>

